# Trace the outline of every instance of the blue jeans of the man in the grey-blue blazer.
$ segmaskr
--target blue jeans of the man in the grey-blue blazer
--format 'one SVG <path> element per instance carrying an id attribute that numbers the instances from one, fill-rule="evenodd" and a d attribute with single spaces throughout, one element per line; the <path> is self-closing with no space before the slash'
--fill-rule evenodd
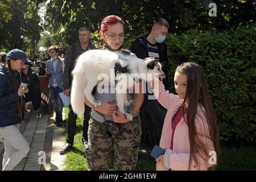
<path id="1" fill-rule="evenodd" d="M 57 123 L 61 123 L 63 122 L 63 119 L 62 119 L 63 102 L 60 98 L 59 93 L 63 92 L 63 89 L 60 89 L 59 86 L 50 86 L 49 91 L 52 98 L 53 108 L 56 113 L 55 121 Z"/>

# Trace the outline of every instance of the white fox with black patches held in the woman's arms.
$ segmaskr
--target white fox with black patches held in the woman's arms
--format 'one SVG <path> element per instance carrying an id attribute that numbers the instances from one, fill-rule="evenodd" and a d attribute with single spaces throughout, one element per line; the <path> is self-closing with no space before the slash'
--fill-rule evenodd
<path id="1" fill-rule="evenodd" d="M 122 53 L 106 50 L 91 50 L 82 53 L 82 55 L 78 57 L 76 66 L 72 72 L 71 105 L 76 114 L 84 114 L 85 98 L 91 102 L 94 107 L 101 105 L 101 102 L 97 101 L 93 96 L 92 90 L 94 86 L 102 81 L 97 79 L 98 75 L 101 73 L 105 73 L 109 78 L 111 75 L 115 75 L 114 67 L 117 62 L 122 67 L 127 66 L 130 73 L 133 74 L 120 73 L 115 77 L 115 80 L 109 80 L 110 84 L 115 84 L 115 81 L 119 80 L 118 77 L 121 76 L 127 78 L 131 76 L 134 77 L 135 73 L 137 73 L 137 76 L 141 75 L 141 73 L 158 73 L 160 77 L 165 77 L 160 63 L 154 58 L 143 61 L 134 55 L 124 55 Z M 126 89 L 129 89 L 133 87 L 134 83 L 126 82 L 126 84 L 123 85 Z M 126 113 L 124 110 L 124 105 L 129 106 L 131 104 L 131 102 L 127 101 L 126 94 L 116 93 L 116 97 L 118 109 L 122 111 L 129 120 L 132 120 L 132 115 Z"/>

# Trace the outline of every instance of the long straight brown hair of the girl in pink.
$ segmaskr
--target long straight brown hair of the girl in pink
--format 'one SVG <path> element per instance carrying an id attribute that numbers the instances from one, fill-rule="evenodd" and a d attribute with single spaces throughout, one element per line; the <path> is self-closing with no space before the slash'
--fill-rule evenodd
<path id="1" fill-rule="evenodd" d="M 200 117 L 204 122 L 205 131 L 209 133 L 205 134 L 213 142 L 214 150 L 218 155 L 220 154 L 220 143 L 218 139 L 218 127 L 217 118 L 214 114 L 212 101 L 210 99 L 209 90 L 207 88 L 207 82 L 205 81 L 203 68 L 196 63 L 183 63 L 177 67 L 176 72 L 184 73 L 187 75 L 187 92 L 185 94 L 183 105 L 187 107 L 187 117 L 185 121 L 188 125 L 189 144 L 190 144 L 190 157 L 188 169 L 191 169 L 192 161 L 195 162 L 197 169 L 200 169 L 199 160 L 196 154 L 205 159 L 205 164 L 209 159 L 209 148 L 199 140 L 199 135 L 195 128 L 196 117 Z M 200 106 L 204 115 L 197 113 L 197 107 Z M 216 166 L 217 166 L 216 164 Z M 214 167 L 216 167 L 214 166 Z M 213 168 L 214 168 L 213 167 Z"/>

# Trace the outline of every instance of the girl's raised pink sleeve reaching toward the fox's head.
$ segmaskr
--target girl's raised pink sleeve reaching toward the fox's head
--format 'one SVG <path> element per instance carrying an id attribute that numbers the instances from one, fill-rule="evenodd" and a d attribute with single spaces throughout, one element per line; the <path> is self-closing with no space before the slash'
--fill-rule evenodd
<path id="1" fill-rule="evenodd" d="M 156 84 L 157 82 L 155 82 Z M 173 105 L 177 100 L 179 100 L 179 97 L 175 94 L 169 93 L 168 90 L 164 88 L 164 84 L 162 81 L 158 81 L 158 86 L 155 85 L 153 91 L 154 96 L 158 100 L 158 102 L 166 109 Z"/>

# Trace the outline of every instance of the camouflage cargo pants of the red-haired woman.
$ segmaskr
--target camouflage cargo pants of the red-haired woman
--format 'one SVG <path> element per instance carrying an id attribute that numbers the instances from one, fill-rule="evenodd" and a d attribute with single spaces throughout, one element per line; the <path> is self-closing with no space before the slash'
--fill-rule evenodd
<path id="1" fill-rule="evenodd" d="M 102 131 L 104 123 L 90 118 L 88 129 L 89 150 L 85 151 L 90 170 L 109 170 L 112 148 L 115 170 L 128 171 L 135 169 L 141 143 L 141 119 L 137 116 L 129 123 L 117 123 L 120 131 L 117 136 L 113 136 L 106 133 L 106 131 Z"/>

